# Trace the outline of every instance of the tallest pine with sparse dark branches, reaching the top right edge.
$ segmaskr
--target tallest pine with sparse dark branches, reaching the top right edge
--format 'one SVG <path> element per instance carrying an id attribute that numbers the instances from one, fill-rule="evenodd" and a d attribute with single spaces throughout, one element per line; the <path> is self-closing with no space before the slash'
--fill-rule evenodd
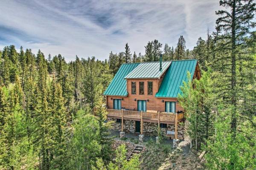
<path id="1" fill-rule="evenodd" d="M 237 72 L 237 67 L 239 62 L 250 59 L 247 58 L 247 55 L 244 55 L 241 49 L 248 47 L 246 39 L 250 34 L 251 28 L 255 27 L 255 23 L 252 20 L 256 11 L 256 4 L 253 3 L 253 0 L 221 0 L 220 6 L 225 7 L 226 10 L 216 12 L 220 16 L 216 20 L 216 29 L 219 31 L 218 40 L 221 42 L 218 50 L 223 51 L 226 55 L 222 56 L 218 61 L 222 65 L 221 71 L 224 70 L 228 73 L 224 73 L 225 83 L 221 86 L 224 85 L 223 90 L 225 89 L 228 94 L 227 99 L 232 107 L 231 133 L 235 138 L 237 133 L 237 102 L 239 99 L 239 85 L 237 84 L 239 73 Z"/>

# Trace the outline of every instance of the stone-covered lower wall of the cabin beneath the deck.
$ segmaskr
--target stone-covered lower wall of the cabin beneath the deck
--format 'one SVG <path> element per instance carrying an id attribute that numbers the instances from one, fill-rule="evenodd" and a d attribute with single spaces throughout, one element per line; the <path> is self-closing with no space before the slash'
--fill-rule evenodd
<path id="1" fill-rule="evenodd" d="M 108 117 L 108 121 L 113 121 L 112 129 L 121 131 L 121 123 L 117 123 L 115 118 Z M 135 133 L 135 120 L 124 120 L 124 132 Z M 175 132 L 175 125 L 167 124 L 167 128 L 160 128 L 164 136 L 174 139 L 175 135 L 167 135 L 167 130 Z M 143 134 L 146 136 L 157 136 L 157 123 L 143 122 Z M 178 139 L 184 139 L 183 126 L 178 125 Z"/>

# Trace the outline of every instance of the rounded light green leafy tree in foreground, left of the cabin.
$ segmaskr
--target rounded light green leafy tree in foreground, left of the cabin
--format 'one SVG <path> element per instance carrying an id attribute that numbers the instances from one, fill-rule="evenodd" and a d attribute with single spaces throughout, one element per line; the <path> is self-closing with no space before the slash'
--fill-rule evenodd
<path id="1" fill-rule="evenodd" d="M 80 110 L 72 128 L 73 137 L 67 151 L 67 169 L 87 169 L 101 156 L 98 121 L 94 116 Z"/>

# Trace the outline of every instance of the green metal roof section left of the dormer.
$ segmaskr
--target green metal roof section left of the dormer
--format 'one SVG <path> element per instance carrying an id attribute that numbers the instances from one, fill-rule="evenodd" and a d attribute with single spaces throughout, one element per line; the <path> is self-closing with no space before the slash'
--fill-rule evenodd
<path id="1" fill-rule="evenodd" d="M 140 63 L 122 64 L 103 95 L 127 96 L 128 92 L 125 76 L 133 71 L 138 65 L 140 65 Z"/>

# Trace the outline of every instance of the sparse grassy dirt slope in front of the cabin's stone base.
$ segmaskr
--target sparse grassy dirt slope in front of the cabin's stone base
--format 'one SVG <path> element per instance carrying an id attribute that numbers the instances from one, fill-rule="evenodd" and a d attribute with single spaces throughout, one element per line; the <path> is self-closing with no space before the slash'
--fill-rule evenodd
<path id="1" fill-rule="evenodd" d="M 112 133 L 117 135 L 117 133 Z M 125 139 L 120 140 L 116 136 L 114 142 L 117 147 L 125 144 L 128 154 L 136 145 L 144 147 L 141 153 L 141 170 L 203 170 L 204 167 L 198 158 L 199 152 L 190 150 L 189 140 L 180 142 L 177 149 L 172 148 L 171 140 L 164 140 L 162 144 L 156 144 L 154 138 L 147 138 L 143 143 L 137 143 L 137 136 L 129 134 Z"/>

